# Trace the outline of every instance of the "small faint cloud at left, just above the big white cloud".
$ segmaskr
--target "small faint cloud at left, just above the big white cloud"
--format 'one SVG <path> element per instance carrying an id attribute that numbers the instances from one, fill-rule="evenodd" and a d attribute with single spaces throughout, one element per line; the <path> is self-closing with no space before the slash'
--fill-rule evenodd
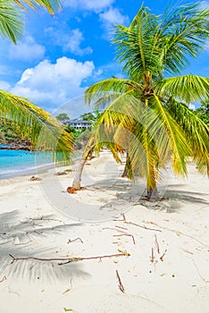
<path id="1" fill-rule="evenodd" d="M 24 40 L 14 46 L 9 47 L 9 56 L 13 59 L 24 61 L 38 60 L 45 55 L 45 47 L 38 45 L 31 36 L 26 36 Z"/>

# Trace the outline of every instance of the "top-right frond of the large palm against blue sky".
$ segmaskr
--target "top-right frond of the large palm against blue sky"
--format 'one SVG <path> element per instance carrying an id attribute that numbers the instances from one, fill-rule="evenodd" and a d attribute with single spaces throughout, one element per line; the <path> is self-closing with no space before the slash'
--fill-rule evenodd
<path id="1" fill-rule="evenodd" d="M 162 58 L 164 70 L 180 72 L 188 64 L 188 56 L 196 57 L 203 50 L 209 35 L 209 9 L 199 3 L 174 5 L 161 19 Z"/>

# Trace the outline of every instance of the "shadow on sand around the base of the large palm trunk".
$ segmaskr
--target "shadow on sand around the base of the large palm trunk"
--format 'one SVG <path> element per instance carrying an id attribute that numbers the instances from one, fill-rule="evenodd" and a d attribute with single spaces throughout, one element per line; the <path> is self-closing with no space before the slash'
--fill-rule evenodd
<path id="1" fill-rule="evenodd" d="M 115 199 L 108 201 L 105 206 L 123 206 L 131 208 L 132 206 L 142 205 L 144 207 L 155 210 L 166 210 L 168 213 L 174 213 L 180 210 L 184 203 L 209 205 L 204 199 L 207 195 L 201 192 L 182 190 L 183 185 L 175 185 L 175 188 L 180 187 L 181 190 L 172 190 L 172 185 L 160 185 L 158 187 L 160 199 L 146 199 L 146 183 L 143 181 L 130 182 L 124 179 L 103 180 L 89 185 L 90 190 L 113 190 L 117 191 Z M 125 211 L 123 209 L 123 211 Z"/>

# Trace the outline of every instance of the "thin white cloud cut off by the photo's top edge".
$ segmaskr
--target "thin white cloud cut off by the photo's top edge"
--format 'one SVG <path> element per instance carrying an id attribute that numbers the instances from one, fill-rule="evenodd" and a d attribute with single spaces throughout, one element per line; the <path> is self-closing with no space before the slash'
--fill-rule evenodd
<path id="1" fill-rule="evenodd" d="M 100 13 L 104 9 L 112 5 L 114 1 L 115 0 L 66 0 L 64 2 L 64 5 L 78 8 L 81 10 L 88 10 Z"/>

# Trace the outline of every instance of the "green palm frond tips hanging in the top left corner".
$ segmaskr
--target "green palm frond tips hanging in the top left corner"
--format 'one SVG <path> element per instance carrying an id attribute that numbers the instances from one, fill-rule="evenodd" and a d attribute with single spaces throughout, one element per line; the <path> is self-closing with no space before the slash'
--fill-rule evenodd
<path id="1" fill-rule="evenodd" d="M 0 34 L 16 44 L 24 30 L 27 6 L 33 10 L 44 7 L 54 14 L 61 9 L 62 3 L 62 0 L 3 0 L 0 2 Z"/>

